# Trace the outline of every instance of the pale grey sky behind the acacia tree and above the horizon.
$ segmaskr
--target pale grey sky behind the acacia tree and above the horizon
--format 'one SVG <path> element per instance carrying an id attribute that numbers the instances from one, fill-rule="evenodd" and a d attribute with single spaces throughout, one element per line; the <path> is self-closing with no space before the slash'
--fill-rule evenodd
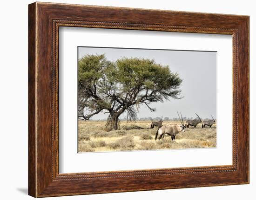
<path id="1" fill-rule="evenodd" d="M 195 118 L 196 112 L 201 118 L 210 118 L 210 115 L 216 118 L 217 52 L 78 47 L 79 58 L 87 54 L 103 53 L 111 61 L 122 57 L 155 59 L 156 63 L 168 65 L 172 72 L 177 72 L 182 78 L 180 87 L 182 99 L 151 103 L 151 107 L 156 108 L 155 112 L 141 105 L 138 118 L 149 116 L 173 118 L 178 117 L 176 111 L 182 112 L 183 117 Z M 99 113 L 91 119 L 107 117 L 107 114 Z"/>

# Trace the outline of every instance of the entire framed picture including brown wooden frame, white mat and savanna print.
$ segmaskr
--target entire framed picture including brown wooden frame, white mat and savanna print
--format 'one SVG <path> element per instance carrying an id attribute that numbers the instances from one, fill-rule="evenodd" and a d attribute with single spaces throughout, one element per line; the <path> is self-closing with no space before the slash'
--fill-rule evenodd
<path id="1" fill-rule="evenodd" d="M 29 195 L 249 183 L 249 16 L 28 8 Z"/>

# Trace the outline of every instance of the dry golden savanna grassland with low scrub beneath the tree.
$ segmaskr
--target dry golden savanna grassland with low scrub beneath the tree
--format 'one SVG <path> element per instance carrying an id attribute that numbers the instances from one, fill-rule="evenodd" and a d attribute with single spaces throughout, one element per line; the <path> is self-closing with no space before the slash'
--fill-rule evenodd
<path id="1" fill-rule="evenodd" d="M 163 122 L 164 125 L 179 124 L 179 122 Z M 128 150 L 153 150 L 174 148 L 214 148 L 216 147 L 216 124 L 211 128 L 202 129 L 202 123 L 196 128 L 187 128 L 185 132 L 176 135 L 175 143 L 170 136 L 155 141 L 154 129 L 129 129 L 133 125 L 148 128 L 150 121 L 137 121 L 134 123 L 121 122 L 119 130 L 106 131 L 104 121 L 82 121 L 78 125 L 78 151 L 128 151 Z M 159 136 L 159 135 L 158 135 Z"/>

